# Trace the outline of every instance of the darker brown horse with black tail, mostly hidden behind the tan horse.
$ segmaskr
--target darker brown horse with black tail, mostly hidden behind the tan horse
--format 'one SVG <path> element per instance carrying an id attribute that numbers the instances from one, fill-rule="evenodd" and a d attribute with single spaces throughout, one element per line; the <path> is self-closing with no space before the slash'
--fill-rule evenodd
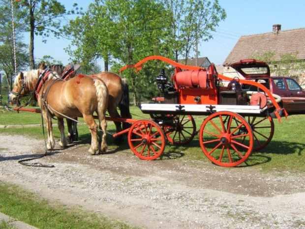
<path id="1" fill-rule="evenodd" d="M 40 69 L 45 69 L 50 67 L 52 71 L 56 71 L 58 74 L 62 74 L 64 66 L 63 65 L 45 65 L 41 63 L 39 65 Z M 129 88 L 125 78 L 122 78 L 120 75 L 113 72 L 100 72 L 92 75 L 93 78 L 99 78 L 106 84 L 109 91 L 109 100 L 108 100 L 108 113 L 113 118 L 131 118 L 129 110 Z M 121 111 L 121 116 L 117 110 L 119 107 Z M 130 125 L 128 123 L 123 123 L 121 127 L 120 122 L 114 122 L 116 125 L 116 131 L 122 131 L 122 128 L 125 130 Z M 77 140 L 77 123 L 67 119 L 68 126 L 68 139 L 70 141 Z M 73 127 L 73 128 L 72 128 Z M 122 135 L 119 135 L 115 138 L 115 143 L 122 143 Z"/>

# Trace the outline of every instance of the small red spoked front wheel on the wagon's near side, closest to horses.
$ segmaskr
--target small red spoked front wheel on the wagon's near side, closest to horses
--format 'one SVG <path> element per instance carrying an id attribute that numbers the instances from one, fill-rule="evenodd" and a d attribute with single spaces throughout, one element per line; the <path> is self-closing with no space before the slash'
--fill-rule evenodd
<path id="1" fill-rule="evenodd" d="M 129 129 L 128 144 L 132 152 L 140 159 L 154 160 L 164 151 L 165 136 L 155 122 L 139 120 Z"/>

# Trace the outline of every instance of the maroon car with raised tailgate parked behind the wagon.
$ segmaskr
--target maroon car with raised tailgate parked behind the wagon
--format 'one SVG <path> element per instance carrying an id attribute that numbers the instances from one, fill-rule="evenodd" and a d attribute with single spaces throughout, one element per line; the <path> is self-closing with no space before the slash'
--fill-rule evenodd
<path id="1" fill-rule="evenodd" d="M 253 80 L 264 85 L 271 93 L 281 97 L 279 106 L 288 113 L 305 112 L 305 91 L 290 77 L 270 76 L 270 68 L 263 61 L 247 60 L 231 65 L 245 79 Z M 260 91 L 251 85 L 242 85 L 248 91 Z M 273 115 L 272 115 L 273 116 Z"/>

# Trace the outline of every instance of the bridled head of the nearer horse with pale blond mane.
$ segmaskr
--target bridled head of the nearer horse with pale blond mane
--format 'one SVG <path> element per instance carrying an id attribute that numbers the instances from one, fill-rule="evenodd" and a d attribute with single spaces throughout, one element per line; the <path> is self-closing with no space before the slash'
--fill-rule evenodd
<path id="1" fill-rule="evenodd" d="M 20 72 L 13 85 L 13 89 L 9 94 L 11 102 L 18 101 L 19 98 L 27 96 L 35 86 L 41 70 L 31 70 Z"/>

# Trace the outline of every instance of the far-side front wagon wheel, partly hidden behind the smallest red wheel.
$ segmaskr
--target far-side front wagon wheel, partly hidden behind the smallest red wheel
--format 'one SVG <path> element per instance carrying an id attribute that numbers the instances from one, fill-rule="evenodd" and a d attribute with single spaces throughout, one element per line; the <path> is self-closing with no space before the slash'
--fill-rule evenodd
<path id="1" fill-rule="evenodd" d="M 174 145 L 184 145 L 193 140 L 196 123 L 191 115 L 176 115 L 173 117 L 173 123 L 165 122 L 162 129 L 169 142 Z"/>

